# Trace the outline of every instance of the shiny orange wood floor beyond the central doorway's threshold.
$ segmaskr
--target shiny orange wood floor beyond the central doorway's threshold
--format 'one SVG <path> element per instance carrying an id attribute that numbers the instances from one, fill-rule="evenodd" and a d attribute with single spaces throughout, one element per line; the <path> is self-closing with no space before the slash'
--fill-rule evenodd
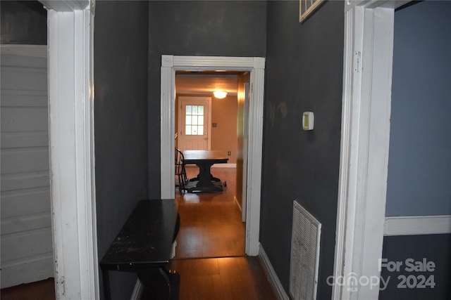
<path id="1" fill-rule="evenodd" d="M 196 172 L 197 167 L 187 167 L 188 178 Z M 223 192 L 177 191 L 181 226 L 175 259 L 245 255 L 245 225 L 234 200 L 235 169 L 213 168 L 211 173 L 227 182 Z"/>

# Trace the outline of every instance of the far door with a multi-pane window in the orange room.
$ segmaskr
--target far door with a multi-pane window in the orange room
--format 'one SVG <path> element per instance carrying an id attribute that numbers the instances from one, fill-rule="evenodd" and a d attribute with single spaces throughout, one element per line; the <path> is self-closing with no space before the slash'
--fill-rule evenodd
<path id="1" fill-rule="evenodd" d="M 180 96 L 178 102 L 178 148 L 209 150 L 211 97 Z"/>

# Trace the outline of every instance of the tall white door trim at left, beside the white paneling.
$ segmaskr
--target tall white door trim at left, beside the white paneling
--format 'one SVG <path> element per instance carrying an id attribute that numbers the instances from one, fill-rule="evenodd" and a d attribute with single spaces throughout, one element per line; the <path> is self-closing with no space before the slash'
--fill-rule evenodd
<path id="1" fill-rule="evenodd" d="M 94 177 L 94 1 L 48 9 L 49 151 L 57 299 L 99 299 Z"/>

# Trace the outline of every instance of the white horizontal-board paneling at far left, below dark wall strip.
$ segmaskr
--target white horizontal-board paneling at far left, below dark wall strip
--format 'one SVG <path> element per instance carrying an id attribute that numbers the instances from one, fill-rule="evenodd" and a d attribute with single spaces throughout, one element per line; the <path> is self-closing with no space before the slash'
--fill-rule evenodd
<path id="1" fill-rule="evenodd" d="M 1 47 L 1 288 L 54 276 L 47 46 Z"/>

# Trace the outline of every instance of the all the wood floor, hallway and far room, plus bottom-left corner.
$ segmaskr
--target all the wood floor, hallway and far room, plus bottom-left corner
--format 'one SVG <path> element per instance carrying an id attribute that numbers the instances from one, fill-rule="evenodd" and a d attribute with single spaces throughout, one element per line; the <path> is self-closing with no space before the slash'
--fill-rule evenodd
<path id="1" fill-rule="evenodd" d="M 189 177 L 197 168 L 187 167 Z M 180 274 L 180 300 L 273 300 L 257 257 L 245 256 L 245 225 L 235 196 L 235 169 L 213 168 L 227 181 L 222 193 L 178 193 L 180 214 L 175 258 L 168 268 Z M 53 279 L 1 289 L 1 300 L 54 300 Z"/>

